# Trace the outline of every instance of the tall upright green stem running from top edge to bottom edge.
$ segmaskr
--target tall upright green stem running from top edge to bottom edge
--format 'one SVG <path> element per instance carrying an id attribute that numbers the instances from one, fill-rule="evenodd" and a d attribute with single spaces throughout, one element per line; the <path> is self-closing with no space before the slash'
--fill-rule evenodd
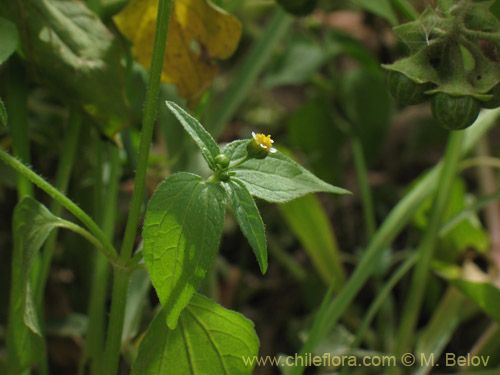
<path id="1" fill-rule="evenodd" d="M 146 104 L 142 121 L 142 134 L 139 146 L 137 171 L 134 181 L 134 192 L 132 193 L 130 212 L 120 252 L 120 260 L 123 263 L 127 263 L 131 258 L 137 234 L 137 225 L 141 215 L 144 189 L 146 185 L 149 148 L 153 138 L 154 122 L 158 109 L 161 71 L 165 56 L 172 2 L 173 0 L 160 0 L 158 5 L 153 56 L 151 60 L 151 73 L 146 92 Z M 106 350 L 104 352 L 104 361 L 101 367 L 102 375 L 112 375 L 117 373 L 129 281 L 130 272 L 128 270 L 115 269 Z"/>

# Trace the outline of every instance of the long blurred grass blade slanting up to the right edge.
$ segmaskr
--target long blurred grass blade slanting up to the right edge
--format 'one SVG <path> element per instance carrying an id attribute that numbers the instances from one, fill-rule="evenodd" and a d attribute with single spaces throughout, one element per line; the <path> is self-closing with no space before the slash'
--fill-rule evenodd
<path id="1" fill-rule="evenodd" d="M 500 109 L 484 111 L 475 125 L 465 130 L 466 136 L 462 147 L 462 155 L 471 151 L 479 139 L 496 124 L 499 116 Z M 309 337 L 300 350 L 299 355 L 312 352 L 330 332 L 331 328 L 335 326 L 359 290 L 376 271 L 380 256 L 383 254 L 386 247 L 404 228 L 420 205 L 436 188 L 441 166 L 442 164 L 440 163 L 427 173 L 427 175 L 399 201 L 396 207 L 392 209 L 377 230 L 377 233 L 375 233 L 375 236 L 365 251 L 365 255 L 346 285 L 332 301 L 323 301 L 326 307 L 316 315 Z M 325 299 L 327 298 L 328 296 L 325 296 Z M 303 371 L 303 366 L 296 366 L 292 368 L 291 374 L 302 374 Z"/>

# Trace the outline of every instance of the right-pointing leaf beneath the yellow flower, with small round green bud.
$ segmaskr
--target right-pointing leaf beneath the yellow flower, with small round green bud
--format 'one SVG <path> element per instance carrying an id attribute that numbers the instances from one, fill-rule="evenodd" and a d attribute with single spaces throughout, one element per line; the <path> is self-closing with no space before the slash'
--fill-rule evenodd
<path id="1" fill-rule="evenodd" d="M 229 143 L 224 149 L 231 160 L 246 155 L 248 140 Z M 269 154 L 265 159 L 251 159 L 232 169 L 251 195 L 269 202 L 283 203 L 308 193 L 348 194 L 347 190 L 332 186 L 314 176 L 281 152 Z"/>

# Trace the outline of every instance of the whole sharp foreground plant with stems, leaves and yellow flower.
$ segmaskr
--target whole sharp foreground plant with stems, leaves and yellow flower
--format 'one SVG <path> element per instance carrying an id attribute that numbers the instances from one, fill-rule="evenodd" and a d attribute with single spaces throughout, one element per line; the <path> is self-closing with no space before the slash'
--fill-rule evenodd
<path id="1" fill-rule="evenodd" d="M 73 12 L 78 11 L 72 8 L 73 3 L 67 5 Z M 47 4 L 47 7 L 43 9 L 50 12 L 52 6 L 64 7 L 66 4 Z M 103 325 L 97 325 L 96 321 L 96 325 L 92 326 L 94 328 L 89 331 L 88 335 L 88 339 L 92 341 L 89 341 L 87 359 L 92 361 L 93 373 L 110 374 L 117 371 L 130 275 L 138 267 L 143 254 L 152 284 L 156 288 L 164 310 L 158 313 L 146 333 L 139 348 L 137 360 L 134 361 L 133 373 L 176 372 L 182 371 L 181 369 L 186 366 L 191 366 L 192 361 L 196 361 L 196 356 L 206 356 L 206 351 L 212 350 L 205 346 L 204 340 L 190 344 L 194 345 L 192 348 L 198 354 L 187 353 L 190 358 L 186 362 L 176 359 L 169 361 L 166 367 L 161 364 L 161 359 L 172 355 L 177 356 L 179 349 L 186 344 L 175 339 L 165 341 L 163 346 L 157 346 L 156 343 L 159 337 L 197 335 L 196 332 L 200 329 L 205 330 L 207 340 L 213 340 L 215 349 L 213 357 L 209 357 L 212 359 L 205 363 L 204 371 L 214 373 L 220 371 L 219 361 L 221 361 L 225 371 L 249 373 L 252 367 L 245 366 L 240 357 L 256 354 L 258 339 L 253 332 L 252 324 L 239 314 L 225 310 L 214 302 L 195 295 L 198 284 L 204 278 L 217 252 L 226 204 L 229 203 L 231 206 L 264 273 L 267 269 L 266 237 L 264 224 L 252 195 L 272 202 L 283 202 L 316 191 L 346 192 L 321 181 L 291 159 L 276 152 L 271 147 L 270 137 L 261 134 L 254 135 L 254 139 L 250 141 L 235 141 L 221 152 L 215 140 L 196 119 L 176 104 L 167 103 L 200 148 L 213 175 L 205 181 L 200 176 L 179 172 L 167 178 L 158 187 L 148 204 L 143 229 L 143 250 L 132 257 L 135 231 L 144 195 L 149 144 L 152 138 L 170 9 L 171 1 L 160 1 L 134 194 L 120 252 L 114 248 L 109 235 L 106 235 L 96 222 L 71 202 L 64 193 L 47 183 L 19 160 L 0 150 L 4 162 L 16 169 L 26 181 L 38 185 L 51 195 L 90 230 L 87 232 L 70 221 L 54 216 L 42 204 L 30 197 L 19 202 L 14 214 L 16 247 L 12 264 L 16 272 L 12 274 L 7 336 L 8 371 L 11 374 L 29 370 L 36 364 L 40 364 L 44 371 L 47 371 L 47 359 L 44 357 L 46 348 L 43 340 L 45 334 L 40 322 L 40 310 L 36 308 L 30 291 L 30 274 L 37 272 L 37 266 L 34 264 L 39 256 L 38 252 L 43 242 L 49 238 L 51 231 L 57 227 L 70 229 L 84 236 L 102 251 L 114 268 L 112 305 L 104 352 L 95 351 L 96 345 L 103 346 L 98 338 L 99 332 L 96 331 L 96 329 L 102 329 Z M 16 8 L 12 8 L 11 11 L 11 14 L 16 14 L 16 17 L 21 17 L 15 13 Z M 89 16 L 88 13 L 87 16 Z M 49 57 L 51 58 L 53 57 Z M 43 63 L 40 65 L 42 69 L 50 69 L 44 67 Z M 92 114 L 97 118 L 100 116 L 94 109 L 92 109 Z M 7 112 L 3 103 L 2 122 L 7 122 Z M 77 129 L 76 123 L 70 123 L 70 125 Z M 112 132 L 116 129 L 106 128 L 105 131 L 108 132 L 107 135 L 113 136 Z M 19 147 L 25 147 L 26 140 L 19 138 L 19 142 L 21 142 Z M 110 188 L 113 189 L 111 186 Z M 101 192 L 98 191 L 98 193 Z M 51 250 L 44 252 L 45 273 L 50 265 L 51 254 Z M 46 276 L 41 279 L 42 285 L 45 281 Z M 40 299 L 43 287 L 38 287 L 37 292 L 35 298 Z M 97 298 L 97 291 L 95 293 L 93 297 Z M 99 300 L 92 301 L 98 303 Z M 103 301 L 101 300 L 100 303 L 102 304 Z M 91 308 L 91 317 L 96 320 L 102 319 L 99 314 L 93 315 L 92 311 L 101 310 L 97 304 L 94 306 L 96 310 Z M 206 316 L 206 311 L 210 311 L 213 317 Z M 101 310 L 102 313 L 104 311 Z M 181 324 L 178 326 L 179 321 Z M 228 321 L 232 323 L 228 325 Z M 91 324 L 94 324 L 94 320 Z M 235 325 L 240 328 L 235 328 Z M 209 331 L 206 331 L 207 326 L 210 327 Z M 225 337 L 216 338 L 210 333 L 211 330 L 216 330 L 221 334 L 225 332 Z M 227 340 L 236 341 L 228 347 Z M 242 346 L 241 342 L 245 345 Z M 157 350 L 153 361 L 149 353 L 151 346 Z M 194 358 L 193 355 L 195 355 Z M 227 356 L 234 357 L 236 360 L 227 359 Z"/>

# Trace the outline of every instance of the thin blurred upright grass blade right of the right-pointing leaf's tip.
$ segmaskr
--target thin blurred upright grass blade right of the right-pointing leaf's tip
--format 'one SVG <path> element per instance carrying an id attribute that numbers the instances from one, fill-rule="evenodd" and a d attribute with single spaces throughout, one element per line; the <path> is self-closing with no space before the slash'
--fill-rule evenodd
<path id="1" fill-rule="evenodd" d="M 368 182 L 368 171 L 366 169 L 365 155 L 361 141 L 356 136 L 351 137 L 352 153 L 358 177 L 358 186 L 361 192 L 361 201 L 363 202 L 363 214 L 365 217 L 366 240 L 369 242 L 376 230 L 375 213 L 373 210 L 373 199 Z"/>

